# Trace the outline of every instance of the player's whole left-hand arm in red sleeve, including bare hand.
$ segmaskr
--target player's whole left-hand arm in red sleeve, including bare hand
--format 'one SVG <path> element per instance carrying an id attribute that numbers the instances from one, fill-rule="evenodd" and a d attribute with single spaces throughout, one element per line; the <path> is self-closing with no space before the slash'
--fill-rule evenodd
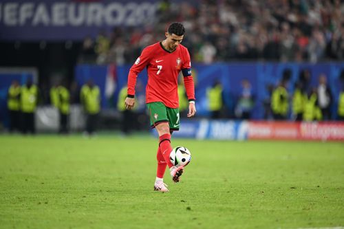
<path id="1" fill-rule="evenodd" d="M 149 50 L 147 47 L 142 51 L 141 55 L 136 59 L 133 66 L 131 66 L 128 74 L 128 89 L 127 98 L 125 98 L 125 109 L 132 109 L 135 105 L 135 86 L 138 74 L 149 63 Z"/>

